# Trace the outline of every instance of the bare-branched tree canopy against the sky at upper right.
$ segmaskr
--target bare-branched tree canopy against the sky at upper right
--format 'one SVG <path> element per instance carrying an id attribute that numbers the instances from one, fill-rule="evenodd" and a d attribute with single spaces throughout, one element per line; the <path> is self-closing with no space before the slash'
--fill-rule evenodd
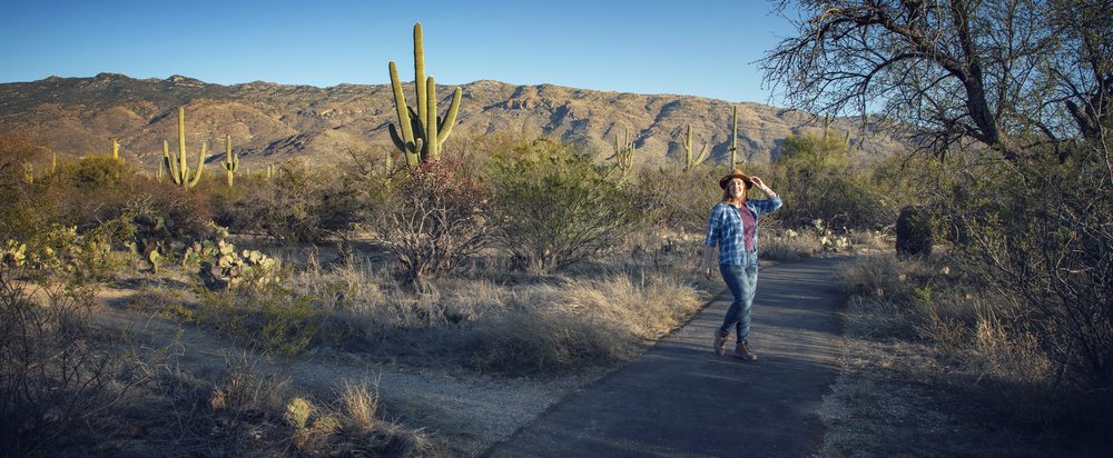
<path id="1" fill-rule="evenodd" d="M 1033 145 L 1095 140 L 1109 127 L 1110 0 L 777 4 L 805 18 L 762 59 L 766 82 L 794 108 L 879 110 L 926 149 L 973 140 L 1008 159 Z"/>

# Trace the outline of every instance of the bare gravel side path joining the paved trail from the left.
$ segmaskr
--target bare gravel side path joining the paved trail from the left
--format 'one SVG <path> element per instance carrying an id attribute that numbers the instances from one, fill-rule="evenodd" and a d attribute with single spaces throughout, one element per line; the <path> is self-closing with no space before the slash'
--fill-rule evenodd
<path id="1" fill-rule="evenodd" d="M 129 291 L 109 289 L 104 303 L 124 302 Z M 95 313 L 101 323 L 130 329 L 152 338 L 156 346 L 173 345 L 183 370 L 221 374 L 229 357 L 243 349 L 195 326 L 178 327 L 164 318 L 104 307 Z M 255 364 L 266 364 L 263 360 Z M 564 395 L 601 377 L 604 371 L 552 380 L 496 378 L 434 369 L 387 367 L 346 354 L 322 351 L 298 358 L 275 374 L 287 377 L 294 391 L 335 399 L 345 382 L 377 387 L 386 420 L 422 428 L 447 447 L 452 456 L 471 457 L 509 438 Z"/>

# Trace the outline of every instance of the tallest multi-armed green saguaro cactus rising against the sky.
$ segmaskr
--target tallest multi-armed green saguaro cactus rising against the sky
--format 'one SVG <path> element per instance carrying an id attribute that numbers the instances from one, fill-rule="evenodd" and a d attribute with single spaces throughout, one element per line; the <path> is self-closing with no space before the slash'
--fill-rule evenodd
<path id="1" fill-rule="evenodd" d="M 425 76 L 425 46 L 421 22 L 414 24 L 414 86 L 417 92 L 416 110 L 406 106 L 402 94 L 402 81 L 398 79 L 397 66 L 392 60 L 391 88 L 394 89 L 394 108 L 398 113 L 398 128 L 390 126 L 391 139 L 401 150 L 406 165 L 414 167 L 421 162 L 439 160 L 441 146 L 449 138 L 452 126 L 456 123 L 460 111 L 461 89 L 457 87 L 449 103 L 449 111 L 442 119 L 436 114 L 436 82 L 433 77 Z M 401 129 L 401 132 L 398 130 Z"/>

